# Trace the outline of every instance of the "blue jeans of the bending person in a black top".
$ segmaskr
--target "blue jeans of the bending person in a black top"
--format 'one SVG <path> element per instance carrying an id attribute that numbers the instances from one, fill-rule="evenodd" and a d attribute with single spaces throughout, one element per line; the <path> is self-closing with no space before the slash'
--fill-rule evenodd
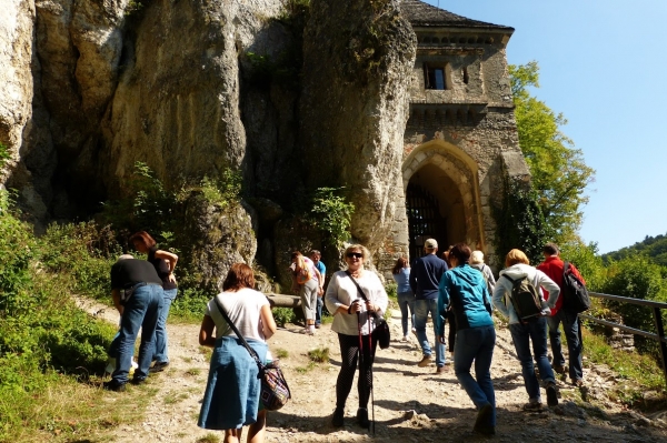
<path id="1" fill-rule="evenodd" d="M 118 360 L 116 361 L 116 371 L 111 374 L 111 379 L 117 384 L 128 382 L 139 328 L 141 328 L 141 345 L 139 346 L 139 368 L 135 371 L 135 379 L 143 380 L 148 376 L 153 354 L 158 314 L 163 303 L 162 292 L 162 286 L 157 284 L 139 286 L 125 305 L 120 320 Z"/>

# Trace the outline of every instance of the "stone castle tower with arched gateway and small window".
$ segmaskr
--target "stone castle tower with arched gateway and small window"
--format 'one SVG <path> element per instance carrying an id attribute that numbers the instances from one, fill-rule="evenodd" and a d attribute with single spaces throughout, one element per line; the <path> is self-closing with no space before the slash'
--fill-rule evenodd
<path id="1" fill-rule="evenodd" d="M 467 19 L 419 0 L 401 10 L 417 34 L 410 115 L 404 138 L 404 195 L 379 268 L 465 241 L 492 259 L 491 202 L 502 174 L 529 177 L 519 149 L 506 47 L 514 28 Z"/>

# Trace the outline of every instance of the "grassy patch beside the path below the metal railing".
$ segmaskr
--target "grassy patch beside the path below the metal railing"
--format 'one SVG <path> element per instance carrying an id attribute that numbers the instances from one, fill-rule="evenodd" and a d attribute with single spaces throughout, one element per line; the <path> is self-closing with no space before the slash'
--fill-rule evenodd
<path id="1" fill-rule="evenodd" d="M 584 354 L 593 363 L 608 365 L 621 379 L 631 380 L 631 384 L 619 383 L 609 393 L 615 400 L 626 404 L 637 405 L 646 391 L 656 391 L 661 401 L 667 401 L 665 377 L 658 363 L 650 355 L 637 352 L 625 352 L 611 348 L 604 336 L 594 334 L 586 328 L 584 334 Z M 635 386 L 635 387 L 633 387 Z"/>

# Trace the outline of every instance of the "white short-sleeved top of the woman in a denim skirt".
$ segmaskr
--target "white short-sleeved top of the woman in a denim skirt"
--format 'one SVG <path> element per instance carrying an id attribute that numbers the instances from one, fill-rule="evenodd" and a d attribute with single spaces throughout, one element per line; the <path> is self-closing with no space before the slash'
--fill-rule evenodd
<path id="1" fill-rule="evenodd" d="M 220 292 L 216 298 L 243 338 L 265 341 L 260 314 L 261 306 L 269 304 L 265 294 L 250 288 L 242 288 L 238 292 Z M 226 335 L 236 336 L 213 299 L 206 304 L 203 314 L 210 316 L 216 323 L 216 339 Z"/>

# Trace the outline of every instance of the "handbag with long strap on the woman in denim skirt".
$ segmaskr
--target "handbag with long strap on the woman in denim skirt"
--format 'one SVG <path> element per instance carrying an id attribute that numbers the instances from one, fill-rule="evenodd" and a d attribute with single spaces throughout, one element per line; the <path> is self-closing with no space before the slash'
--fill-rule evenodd
<path id="1" fill-rule="evenodd" d="M 280 407 L 287 404 L 289 399 L 291 399 L 291 392 L 289 391 L 287 380 L 285 380 L 285 375 L 282 374 L 280 366 L 278 366 L 278 362 L 263 364 L 259 360 L 259 355 L 257 355 L 257 352 L 255 352 L 255 350 L 250 348 L 250 345 L 248 344 L 243 335 L 241 335 L 237 326 L 235 326 L 231 320 L 229 320 L 227 312 L 225 312 L 225 309 L 218 301 L 218 296 L 215 296 L 213 300 L 216 301 L 218 311 L 220 311 L 220 313 L 225 318 L 225 321 L 229 324 L 235 334 L 237 334 L 241 343 L 243 343 L 243 346 L 246 346 L 246 349 L 250 353 L 250 356 L 252 356 L 252 359 L 257 363 L 257 366 L 259 368 L 258 377 L 261 380 L 261 391 L 259 400 L 261 401 L 267 411 L 278 411 Z"/>

